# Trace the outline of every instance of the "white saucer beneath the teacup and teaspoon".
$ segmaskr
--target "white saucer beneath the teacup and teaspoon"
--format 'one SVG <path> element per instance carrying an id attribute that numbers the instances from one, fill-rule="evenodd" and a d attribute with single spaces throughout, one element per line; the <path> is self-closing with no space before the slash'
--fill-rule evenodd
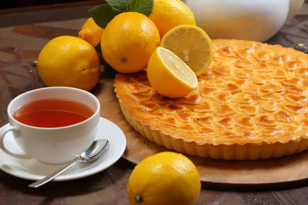
<path id="1" fill-rule="evenodd" d="M 9 124 L 0 129 L 4 129 Z M 53 181 L 79 179 L 101 172 L 120 159 L 126 148 L 126 137 L 113 122 L 101 117 L 95 139 L 105 138 L 109 141 L 108 150 L 98 160 L 88 163 L 77 163 Z M 6 148 L 14 153 L 24 153 L 16 144 L 11 132 L 4 138 Z M 29 180 L 42 179 L 64 165 L 46 165 L 35 159 L 18 159 L 0 150 L 0 169 L 10 175 Z"/>

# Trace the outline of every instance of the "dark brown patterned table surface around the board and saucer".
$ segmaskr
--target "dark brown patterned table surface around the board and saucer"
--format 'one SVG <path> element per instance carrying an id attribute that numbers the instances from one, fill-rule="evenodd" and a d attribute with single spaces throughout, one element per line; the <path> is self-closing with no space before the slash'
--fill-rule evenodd
<path id="1" fill-rule="evenodd" d="M 280 44 L 307 53 L 308 1 L 305 2 L 299 14 L 268 40 L 268 44 Z M 44 87 L 33 65 L 41 49 L 56 36 L 77 36 L 89 17 L 89 7 L 60 6 L 51 10 L 36 9 L 12 14 L 0 12 L 0 127 L 8 123 L 6 109 L 14 97 Z M 46 15 L 41 18 L 43 14 Z M 114 74 L 112 70 L 107 70 L 99 84 L 104 84 L 104 80 L 113 79 Z M 132 169 L 133 166 L 129 162 L 120 159 L 114 166 L 93 176 L 65 182 L 50 182 L 35 190 L 27 187 L 30 181 L 0 171 L 0 203 L 128 204 L 126 185 Z M 282 189 L 277 187 L 266 191 L 235 190 L 227 187 L 214 190 L 209 186 L 202 189 L 198 204 L 308 204 L 307 191 L 308 181 L 301 181 L 295 185 L 286 184 Z"/>

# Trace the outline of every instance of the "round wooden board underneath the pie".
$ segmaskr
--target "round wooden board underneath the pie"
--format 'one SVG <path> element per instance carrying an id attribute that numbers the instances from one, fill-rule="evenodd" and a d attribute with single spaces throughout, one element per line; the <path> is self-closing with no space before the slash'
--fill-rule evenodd
<path id="1" fill-rule="evenodd" d="M 125 120 L 115 96 L 113 79 L 115 71 L 108 69 L 92 93 L 101 103 L 101 116 L 114 122 L 127 139 L 123 158 L 133 164 L 147 156 L 168 151 L 135 131 Z M 308 179 L 308 151 L 292 156 L 267 160 L 217 160 L 186 155 L 195 163 L 203 185 L 211 186 L 263 186 L 280 185 Z"/>

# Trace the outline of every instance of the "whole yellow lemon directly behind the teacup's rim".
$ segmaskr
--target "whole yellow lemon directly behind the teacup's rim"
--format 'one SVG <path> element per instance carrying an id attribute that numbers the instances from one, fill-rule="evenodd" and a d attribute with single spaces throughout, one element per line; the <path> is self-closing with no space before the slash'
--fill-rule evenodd
<path id="1" fill-rule="evenodd" d="M 50 40 L 38 55 L 37 72 L 47 87 L 90 91 L 100 78 L 100 60 L 85 40 L 59 36 Z"/>

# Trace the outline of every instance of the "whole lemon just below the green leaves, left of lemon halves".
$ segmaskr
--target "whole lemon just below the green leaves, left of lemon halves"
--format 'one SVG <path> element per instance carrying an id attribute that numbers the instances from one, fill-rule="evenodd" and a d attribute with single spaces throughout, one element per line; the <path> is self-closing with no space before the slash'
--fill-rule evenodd
<path id="1" fill-rule="evenodd" d="M 101 38 L 104 59 L 113 69 L 122 73 L 144 70 L 159 44 L 160 36 L 155 24 L 137 12 L 115 16 Z"/>

